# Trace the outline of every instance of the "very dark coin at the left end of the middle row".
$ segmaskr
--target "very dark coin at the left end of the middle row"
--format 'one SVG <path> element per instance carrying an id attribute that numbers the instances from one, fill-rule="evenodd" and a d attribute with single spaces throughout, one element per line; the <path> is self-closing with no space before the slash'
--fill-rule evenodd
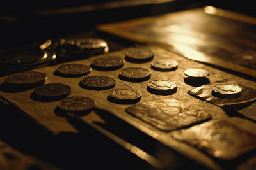
<path id="1" fill-rule="evenodd" d="M 70 94 L 71 87 L 60 83 L 50 83 L 36 87 L 34 92 L 42 97 L 62 97 Z"/>

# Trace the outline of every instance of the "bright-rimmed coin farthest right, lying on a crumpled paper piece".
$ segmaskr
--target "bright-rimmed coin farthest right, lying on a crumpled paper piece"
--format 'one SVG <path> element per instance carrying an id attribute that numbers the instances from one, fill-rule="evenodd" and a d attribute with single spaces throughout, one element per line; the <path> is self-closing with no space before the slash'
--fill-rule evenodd
<path id="1" fill-rule="evenodd" d="M 241 92 L 239 85 L 223 84 L 212 87 L 212 95 L 220 98 L 236 98 L 241 96 Z"/>

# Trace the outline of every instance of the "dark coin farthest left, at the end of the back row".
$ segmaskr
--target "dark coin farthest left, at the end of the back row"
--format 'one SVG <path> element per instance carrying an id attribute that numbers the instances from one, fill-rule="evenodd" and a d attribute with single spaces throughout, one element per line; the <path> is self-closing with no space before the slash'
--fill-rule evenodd
<path id="1" fill-rule="evenodd" d="M 45 82 L 47 75 L 38 71 L 15 73 L 4 78 L 6 83 L 12 85 L 39 85 Z"/>

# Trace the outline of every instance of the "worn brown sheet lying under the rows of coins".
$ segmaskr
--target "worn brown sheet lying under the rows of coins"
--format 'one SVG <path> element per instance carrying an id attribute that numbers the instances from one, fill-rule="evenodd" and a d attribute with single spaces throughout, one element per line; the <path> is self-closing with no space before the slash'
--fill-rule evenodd
<path id="1" fill-rule="evenodd" d="M 256 89 L 255 82 L 244 80 L 243 78 L 239 78 L 232 74 L 224 73 L 223 71 L 214 69 L 209 66 L 205 66 L 204 64 L 200 64 L 199 62 L 195 62 L 193 60 L 180 57 L 175 53 L 168 52 L 166 50 L 163 50 L 163 48 L 159 48 L 157 46 L 148 46 L 148 48 L 150 48 L 154 52 L 153 61 L 155 59 L 161 59 L 162 57 L 168 57 L 170 59 L 175 59 L 179 62 L 178 68 L 175 71 L 161 72 L 161 71 L 155 71 L 154 69 L 151 69 L 150 62 L 146 62 L 144 64 L 134 64 L 126 61 L 124 66 L 120 69 L 117 69 L 114 71 L 97 71 L 93 69 L 92 72 L 88 74 L 88 76 L 94 76 L 94 75 L 109 76 L 111 78 L 114 78 L 117 81 L 116 86 L 114 87 L 116 89 L 130 88 L 130 89 L 140 90 L 140 92 L 142 93 L 142 97 L 139 103 L 154 101 L 154 100 L 163 100 L 163 99 L 177 99 L 179 101 L 182 101 L 182 103 L 186 105 L 190 105 L 194 108 L 200 108 L 200 110 L 207 111 L 207 113 L 211 114 L 212 120 L 224 118 L 225 120 L 236 124 L 238 127 L 245 129 L 247 131 L 250 131 L 252 132 L 252 134 L 256 134 L 255 131 L 253 131 L 253 129 L 256 128 L 255 123 L 242 118 L 238 118 L 238 117 L 230 117 L 220 107 L 215 106 L 214 104 L 207 103 L 205 101 L 201 101 L 200 99 L 196 99 L 193 96 L 190 96 L 187 92 L 188 90 L 191 90 L 194 87 L 184 82 L 184 78 L 186 78 L 186 76 L 184 75 L 184 71 L 192 67 L 206 69 L 210 73 L 210 76 L 209 76 L 210 82 L 227 78 L 229 80 L 237 81 L 253 89 Z M 121 50 L 120 52 L 113 52 L 113 53 L 115 53 L 116 55 L 119 55 L 120 57 L 125 57 L 125 52 L 127 52 L 127 50 L 128 49 L 124 49 L 124 50 Z M 79 60 L 73 63 L 86 64 L 89 66 L 94 58 L 95 57 Z M 46 83 L 65 83 L 70 87 L 72 87 L 72 92 L 69 95 L 69 97 L 71 96 L 90 97 L 93 100 L 95 100 L 96 108 L 98 108 L 99 110 L 108 111 L 109 113 L 115 115 L 116 117 L 124 120 L 128 124 L 131 124 L 132 126 L 136 127 L 140 131 L 145 132 L 152 138 L 157 139 L 161 143 L 164 143 L 164 145 L 167 145 L 170 148 L 177 150 L 178 152 L 189 157 L 190 159 L 196 160 L 200 164 L 204 164 L 205 166 L 211 167 L 213 169 L 220 168 L 218 163 L 216 163 L 216 161 L 211 157 L 209 157 L 207 154 L 200 152 L 200 150 L 194 148 L 193 146 L 186 145 L 185 143 L 182 143 L 180 141 L 173 139 L 170 135 L 170 132 L 161 131 L 154 126 L 147 124 L 146 122 L 143 122 L 143 120 L 141 120 L 140 118 L 133 117 L 129 113 L 126 113 L 125 108 L 131 106 L 131 104 L 115 104 L 108 101 L 107 100 L 108 92 L 111 89 L 101 90 L 101 91 L 83 89 L 79 86 L 79 81 L 81 80 L 81 77 L 80 78 L 64 78 L 64 77 L 56 76 L 53 74 L 56 67 L 58 66 L 43 67 L 43 68 L 35 69 L 35 71 L 41 71 L 47 74 Z M 152 76 L 149 80 L 141 83 L 132 83 L 132 82 L 120 80 L 118 78 L 119 71 L 127 67 L 143 67 L 143 68 L 149 69 L 152 72 Z M 152 81 L 152 80 L 175 81 L 175 83 L 177 83 L 178 85 L 177 92 L 170 96 L 160 96 L 156 94 L 151 94 L 150 92 L 147 91 L 147 83 L 148 81 Z M 4 78 L 2 77 L 0 78 L 0 84 L 3 82 L 4 82 Z M 33 97 L 31 97 L 32 92 L 33 92 L 33 89 L 27 90 L 24 92 L 15 92 L 15 93 L 4 92 L 3 89 L 0 89 L 0 96 L 4 97 L 4 99 L 12 103 L 14 106 L 19 108 L 20 110 L 22 110 L 24 114 L 28 115 L 33 120 L 35 120 L 35 122 L 38 122 L 38 124 L 46 127 L 49 131 L 51 131 L 54 134 L 58 134 L 60 132 L 77 132 L 77 129 L 75 129 L 67 121 L 65 117 L 61 117 L 61 115 L 55 112 L 56 106 L 58 105 L 59 101 L 53 101 L 53 102 L 35 101 L 33 100 Z M 82 116 L 81 119 L 86 120 L 86 122 L 94 122 L 99 124 L 106 124 L 109 121 L 108 118 L 104 117 L 104 115 L 100 115 L 99 113 L 97 113 L 97 111 L 92 111 L 91 113 L 88 113 L 87 115 Z M 115 124 L 115 122 L 111 122 L 111 124 Z"/>

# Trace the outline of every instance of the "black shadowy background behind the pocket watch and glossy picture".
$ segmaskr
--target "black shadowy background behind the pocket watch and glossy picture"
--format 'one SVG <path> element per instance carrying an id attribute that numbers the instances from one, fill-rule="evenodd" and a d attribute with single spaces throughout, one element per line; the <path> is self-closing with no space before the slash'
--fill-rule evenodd
<path id="1" fill-rule="evenodd" d="M 86 36 L 95 36 L 95 32 L 92 31 L 97 24 L 161 15 L 205 5 L 256 16 L 253 1 L 247 0 L 164 2 L 159 0 L 154 3 L 150 1 L 145 3 L 142 0 L 141 5 L 138 5 L 138 2 L 136 0 L 4 1 L 1 2 L 0 10 L 0 46 L 6 48 L 24 43 L 41 43 L 45 39 L 56 39 L 81 32 L 87 32 Z M 111 3 L 116 4 L 115 8 L 111 7 Z"/>

